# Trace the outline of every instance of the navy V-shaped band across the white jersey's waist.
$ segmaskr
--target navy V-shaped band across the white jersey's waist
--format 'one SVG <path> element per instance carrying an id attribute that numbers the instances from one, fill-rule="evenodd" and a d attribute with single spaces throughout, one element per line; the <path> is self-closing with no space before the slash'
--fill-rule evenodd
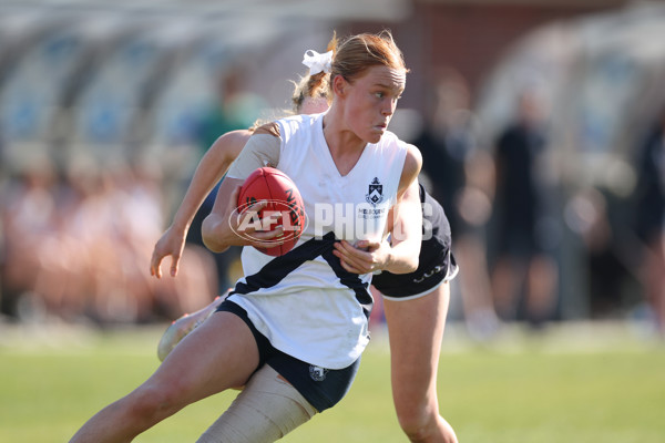
<path id="1" fill-rule="evenodd" d="M 365 315 L 369 317 L 374 305 L 374 299 L 368 290 L 369 285 L 362 282 L 357 274 L 349 272 L 341 267 L 339 258 L 332 254 L 336 241 L 335 233 L 331 231 L 320 239 L 313 238 L 307 240 L 285 255 L 275 257 L 258 272 L 245 277 L 245 282 L 238 281 L 229 295 L 249 293 L 256 292 L 262 288 L 272 288 L 305 261 L 314 260 L 316 257 L 321 256 L 339 278 L 339 281 L 356 293 L 356 300 L 362 306 Z"/>

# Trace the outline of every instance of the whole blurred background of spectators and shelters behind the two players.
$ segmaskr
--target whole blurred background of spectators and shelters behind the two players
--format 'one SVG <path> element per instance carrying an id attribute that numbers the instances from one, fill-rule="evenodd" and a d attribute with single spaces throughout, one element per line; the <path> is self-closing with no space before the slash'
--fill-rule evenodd
<path id="1" fill-rule="evenodd" d="M 198 161 L 289 107 L 305 50 L 385 28 L 411 70 L 391 130 L 452 225 L 451 317 L 665 331 L 665 4 L 618 0 L 0 0 L 3 318 L 207 303 L 238 255 L 196 223 L 180 276 L 149 272 Z"/>

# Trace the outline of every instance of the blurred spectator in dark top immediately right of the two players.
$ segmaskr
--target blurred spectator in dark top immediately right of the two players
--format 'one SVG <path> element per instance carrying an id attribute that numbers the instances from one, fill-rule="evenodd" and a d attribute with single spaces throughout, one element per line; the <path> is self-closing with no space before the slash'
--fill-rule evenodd
<path id="1" fill-rule="evenodd" d="M 469 333 L 483 341 L 498 318 L 488 275 L 484 226 L 491 214 L 493 165 L 478 146 L 467 80 L 453 69 L 437 73 L 428 122 L 413 142 L 423 157 L 423 179 L 450 220 L 460 265 L 462 309 Z"/>

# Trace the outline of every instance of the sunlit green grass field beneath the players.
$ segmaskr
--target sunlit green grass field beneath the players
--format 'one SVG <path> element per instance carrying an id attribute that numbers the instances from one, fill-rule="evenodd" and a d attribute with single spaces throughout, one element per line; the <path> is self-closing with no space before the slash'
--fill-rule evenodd
<path id="1" fill-rule="evenodd" d="M 462 443 L 665 441 L 665 347 L 622 326 L 508 332 L 475 347 L 449 328 L 439 371 L 441 411 Z M 162 328 L 0 328 L 0 442 L 65 442 L 94 412 L 157 367 Z M 351 392 L 285 442 L 403 442 L 380 334 Z M 233 393 L 191 405 L 136 442 L 193 442 Z"/>

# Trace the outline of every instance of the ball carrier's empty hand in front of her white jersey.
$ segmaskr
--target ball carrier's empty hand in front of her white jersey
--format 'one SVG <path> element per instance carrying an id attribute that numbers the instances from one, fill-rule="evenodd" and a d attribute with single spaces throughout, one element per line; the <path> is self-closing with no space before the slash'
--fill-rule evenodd
<path id="1" fill-rule="evenodd" d="M 354 246 L 341 240 L 335 243 L 332 254 L 347 271 L 368 274 L 386 268 L 390 261 L 390 245 L 388 241 L 359 240 Z"/>

